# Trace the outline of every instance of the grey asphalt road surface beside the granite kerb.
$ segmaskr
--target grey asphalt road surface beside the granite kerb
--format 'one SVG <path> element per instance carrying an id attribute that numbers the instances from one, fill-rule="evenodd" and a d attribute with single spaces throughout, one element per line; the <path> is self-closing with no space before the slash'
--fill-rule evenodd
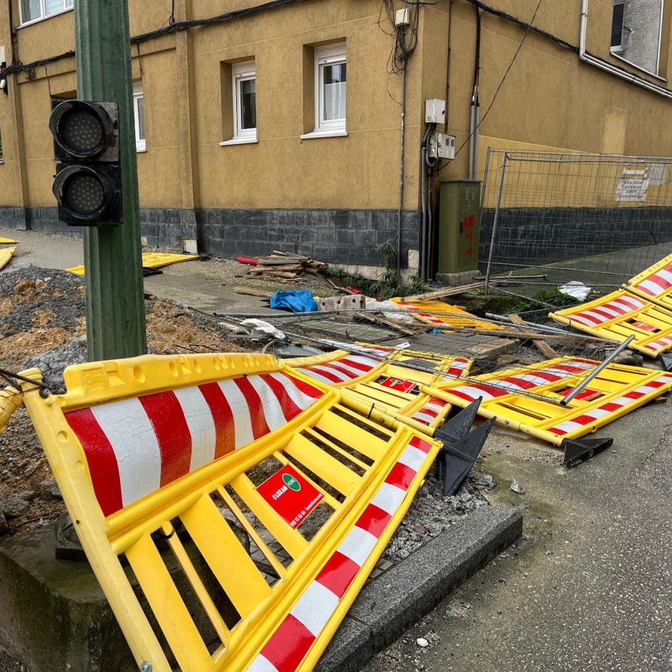
<path id="1" fill-rule="evenodd" d="M 364 672 L 669 672 L 670 406 L 603 427 L 596 434 L 614 437 L 612 449 L 569 471 L 545 463 L 532 438 L 496 427 L 477 466 L 498 483 L 488 496 L 523 512 L 523 543 Z M 511 492 L 512 478 L 525 495 Z"/>

